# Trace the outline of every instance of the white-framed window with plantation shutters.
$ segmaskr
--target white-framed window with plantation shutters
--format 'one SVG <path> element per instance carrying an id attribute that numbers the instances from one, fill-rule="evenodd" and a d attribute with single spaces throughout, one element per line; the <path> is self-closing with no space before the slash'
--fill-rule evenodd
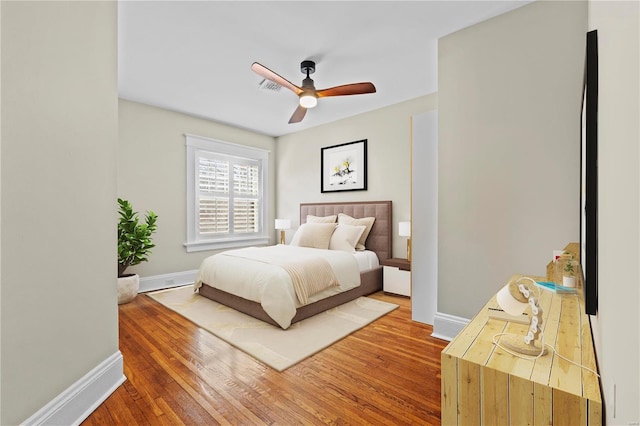
<path id="1" fill-rule="evenodd" d="M 269 152 L 186 135 L 188 252 L 267 244 Z"/>

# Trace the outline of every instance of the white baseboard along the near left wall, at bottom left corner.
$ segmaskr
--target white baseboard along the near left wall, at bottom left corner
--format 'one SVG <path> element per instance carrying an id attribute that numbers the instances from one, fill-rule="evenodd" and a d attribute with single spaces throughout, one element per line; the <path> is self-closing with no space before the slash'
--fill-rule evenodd
<path id="1" fill-rule="evenodd" d="M 23 425 L 78 425 L 127 378 L 120 351 L 25 420 Z"/>

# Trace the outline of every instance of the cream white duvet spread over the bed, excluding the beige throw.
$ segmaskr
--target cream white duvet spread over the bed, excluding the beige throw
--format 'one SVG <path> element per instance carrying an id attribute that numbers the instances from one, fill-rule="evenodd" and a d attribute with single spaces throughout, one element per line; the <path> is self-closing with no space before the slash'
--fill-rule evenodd
<path id="1" fill-rule="evenodd" d="M 301 306 L 289 274 L 280 266 L 246 259 L 277 255 L 291 261 L 322 257 L 331 265 L 339 285 L 309 297 L 309 303 L 360 285 L 360 268 L 356 257 L 338 250 L 277 245 L 230 250 L 206 258 L 200 265 L 195 289 L 202 283 L 260 303 L 262 309 L 283 329 L 291 325 L 296 309 Z"/>

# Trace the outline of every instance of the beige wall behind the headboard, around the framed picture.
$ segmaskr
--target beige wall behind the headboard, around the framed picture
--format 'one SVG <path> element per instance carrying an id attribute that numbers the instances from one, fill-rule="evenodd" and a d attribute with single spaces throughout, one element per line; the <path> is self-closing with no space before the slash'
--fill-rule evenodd
<path id="1" fill-rule="evenodd" d="M 393 254 L 406 257 L 406 239 L 397 223 L 411 215 L 411 116 L 437 108 L 437 95 L 427 95 L 331 124 L 281 136 L 277 140 L 277 215 L 299 225 L 300 203 L 393 201 Z M 320 149 L 367 139 L 367 190 L 320 192 Z"/>

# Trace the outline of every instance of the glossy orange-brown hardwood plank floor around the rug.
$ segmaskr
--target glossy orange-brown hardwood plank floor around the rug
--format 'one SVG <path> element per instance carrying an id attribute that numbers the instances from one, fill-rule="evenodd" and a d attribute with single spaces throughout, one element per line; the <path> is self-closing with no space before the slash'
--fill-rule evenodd
<path id="1" fill-rule="evenodd" d="M 439 425 L 447 342 L 400 308 L 279 373 L 145 295 L 119 306 L 127 381 L 83 425 Z"/>

